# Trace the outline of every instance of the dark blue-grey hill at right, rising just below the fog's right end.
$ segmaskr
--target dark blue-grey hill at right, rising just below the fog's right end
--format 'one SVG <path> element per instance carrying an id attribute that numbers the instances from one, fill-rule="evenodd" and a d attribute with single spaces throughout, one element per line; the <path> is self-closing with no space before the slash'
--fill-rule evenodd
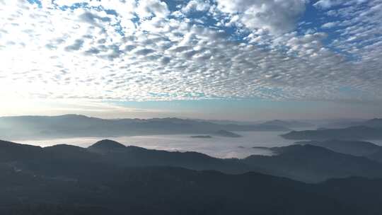
<path id="1" fill-rule="evenodd" d="M 249 156 L 243 162 L 264 173 L 320 182 L 329 178 L 381 178 L 381 164 L 368 158 L 330 151 L 320 146 L 292 145 L 270 148 L 275 156 Z"/>

